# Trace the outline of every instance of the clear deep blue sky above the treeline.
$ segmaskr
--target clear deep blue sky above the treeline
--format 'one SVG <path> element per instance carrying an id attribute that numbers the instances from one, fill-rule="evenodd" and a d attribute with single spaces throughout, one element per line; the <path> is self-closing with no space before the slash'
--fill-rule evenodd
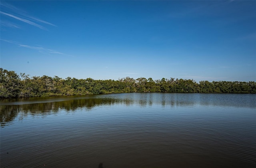
<path id="1" fill-rule="evenodd" d="M 256 1 L 0 4 L 0 67 L 18 74 L 256 81 Z"/>

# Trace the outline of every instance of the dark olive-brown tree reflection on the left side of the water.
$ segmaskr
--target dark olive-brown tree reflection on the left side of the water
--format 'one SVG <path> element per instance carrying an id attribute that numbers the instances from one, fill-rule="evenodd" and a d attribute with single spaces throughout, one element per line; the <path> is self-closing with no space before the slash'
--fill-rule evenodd
<path id="1" fill-rule="evenodd" d="M 24 99 L 20 99 L 24 100 Z M 2 100 L 13 101 L 12 100 Z M 124 100 L 122 100 L 124 101 Z M 52 113 L 58 113 L 60 110 L 66 110 L 67 112 L 75 111 L 79 108 L 85 110 L 91 110 L 95 106 L 111 105 L 120 100 L 112 98 L 86 98 L 86 99 L 73 99 L 68 101 L 57 102 L 45 102 L 45 103 L 32 103 L 32 104 L 20 104 L 20 105 L 1 105 L 0 106 L 0 122 L 1 127 L 8 125 L 14 118 L 19 117 L 22 120 L 27 114 L 30 115 L 47 115 Z"/>

